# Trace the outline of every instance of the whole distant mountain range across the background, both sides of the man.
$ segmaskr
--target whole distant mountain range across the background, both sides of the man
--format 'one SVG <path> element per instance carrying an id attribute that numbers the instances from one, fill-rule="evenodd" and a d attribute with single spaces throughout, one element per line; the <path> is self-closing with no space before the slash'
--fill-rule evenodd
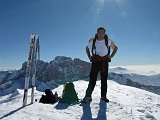
<path id="1" fill-rule="evenodd" d="M 9 94 L 17 88 L 23 89 L 26 65 L 24 62 L 20 70 L 0 71 L 0 95 Z M 66 82 L 88 80 L 90 68 L 91 64 L 88 62 L 65 56 L 57 56 L 49 63 L 38 61 L 36 87 L 44 91 L 45 88 L 52 89 Z M 160 74 L 146 76 L 117 67 L 109 70 L 108 79 L 160 95 Z"/>

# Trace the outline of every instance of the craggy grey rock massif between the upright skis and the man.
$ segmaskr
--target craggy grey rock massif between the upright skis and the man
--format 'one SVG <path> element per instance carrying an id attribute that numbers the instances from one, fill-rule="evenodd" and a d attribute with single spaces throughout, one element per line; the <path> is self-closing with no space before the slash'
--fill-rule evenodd
<path id="1" fill-rule="evenodd" d="M 26 65 L 27 63 L 22 65 L 22 70 L 25 70 Z M 87 79 L 89 72 L 90 63 L 78 58 L 73 60 L 70 57 L 57 56 L 50 63 L 38 61 L 37 64 L 37 79 L 42 82 Z"/>

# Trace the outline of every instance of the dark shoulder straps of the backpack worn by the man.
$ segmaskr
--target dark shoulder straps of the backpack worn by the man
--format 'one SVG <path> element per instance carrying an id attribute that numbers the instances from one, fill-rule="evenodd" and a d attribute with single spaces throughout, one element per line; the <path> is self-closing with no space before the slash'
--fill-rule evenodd
<path id="1" fill-rule="evenodd" d="M 96 51 L 96 46 L 95 46 L 95 42 L 96 42 L 96 39 L 97 39 L 97 35 L 95 35 L 95 38 L 93 39 L 93 44 L 92 44 L 92 56 L 94 55 L 93 51 L 95 50 Z M 108 48 L 108 54 L 107 55 L 110 55 L 110 46 L 108 47 L 108 35 L 106 34 L 105 37 L 105 44 Z"/>

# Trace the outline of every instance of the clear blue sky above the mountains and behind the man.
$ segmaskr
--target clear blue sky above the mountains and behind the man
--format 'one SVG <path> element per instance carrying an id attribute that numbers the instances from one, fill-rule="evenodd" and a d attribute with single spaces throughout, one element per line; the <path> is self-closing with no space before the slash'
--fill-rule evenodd
<path id="1" fill-rule="evenodd" d="M 119 50 L 111 66 L 160 64 L 160 0 L 0 0 L 0 69 L 19 69 L 31 33 L 41 60 L 88 61 L 85 46 L 103 26 Z"/>

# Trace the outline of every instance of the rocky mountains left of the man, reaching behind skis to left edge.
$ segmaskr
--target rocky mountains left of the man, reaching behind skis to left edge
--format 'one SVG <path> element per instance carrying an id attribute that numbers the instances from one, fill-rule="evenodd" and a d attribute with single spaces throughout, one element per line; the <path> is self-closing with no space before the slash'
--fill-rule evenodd
<path id="1" fill-rule="evenodd" d="M 22 64 L 20 70 L 0 71 L 0 95 L 14 92 L 17 88 L 24 88 L 27 62 Z M 78 58 L 57 56 L 48 62 L 37 61 L 36 87 L 42 84 L 53 87 L 53 83 L 64 84 L 79 79 L 88 79 L 90 63 Z M 31 80 L 30 84 L 31 86 Z"/>

